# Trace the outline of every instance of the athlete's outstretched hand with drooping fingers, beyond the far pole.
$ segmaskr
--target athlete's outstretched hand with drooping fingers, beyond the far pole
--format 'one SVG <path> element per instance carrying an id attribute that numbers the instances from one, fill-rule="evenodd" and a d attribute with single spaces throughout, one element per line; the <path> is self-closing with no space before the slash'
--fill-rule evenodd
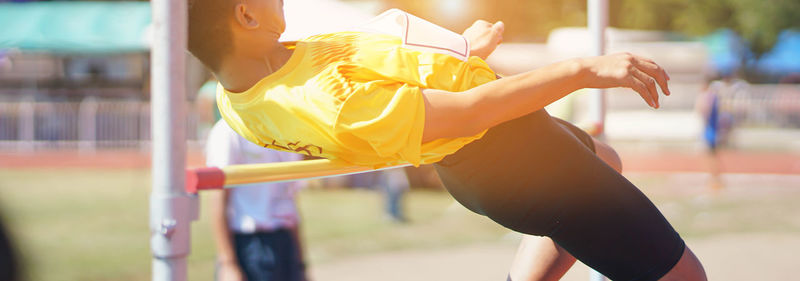
<path id="1" fill-rule="evenodd" d="M 585 88 L 625 87 L 639 93 L 653 108 L 659 108 L 658 90 L 669 96 L 669 75 L 650 59 L 620 53 L 583 59 L 588 71 Z"/>

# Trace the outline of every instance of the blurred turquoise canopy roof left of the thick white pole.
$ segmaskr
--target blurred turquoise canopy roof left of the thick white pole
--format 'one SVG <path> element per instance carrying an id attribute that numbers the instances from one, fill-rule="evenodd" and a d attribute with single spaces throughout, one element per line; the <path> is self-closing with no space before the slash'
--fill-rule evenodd
<path id="1" fill-rule="evenodd" d="M 0 3 L 0 49 L 146 52 L 148 2 Z"/>

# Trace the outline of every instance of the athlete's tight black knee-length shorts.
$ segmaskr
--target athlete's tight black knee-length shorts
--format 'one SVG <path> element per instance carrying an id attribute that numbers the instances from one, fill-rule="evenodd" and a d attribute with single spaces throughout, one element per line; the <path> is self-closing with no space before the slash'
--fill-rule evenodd
<path id="1" fill-rule="evenodd" d="M 593 148 L 586 133 L 540 110 L 491 128 L 435 167 L 468 209 L 548 236 L 612 280 L 657 280 L 684 242 Z"/>

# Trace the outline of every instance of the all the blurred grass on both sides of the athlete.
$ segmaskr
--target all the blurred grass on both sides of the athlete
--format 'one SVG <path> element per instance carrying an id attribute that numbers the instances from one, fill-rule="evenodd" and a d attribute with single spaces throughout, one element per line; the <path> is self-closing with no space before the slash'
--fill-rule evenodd
<path id="1" fill-rule="evenodd" d="M 714 193 L 697 180 L 631 180 L 684 237 L 800 233 L 796 185 L 732 183 Z M 15 238 L 28 280 L 149 280 L 149 186 L 146 170 L 0 171 L 0 216 Z M 377 192 L 310 189 L 299 198 L 311 266 L 366 253 L 497 241 L 508 233 L 443 191 L 411 192 L 406 200 L 411 223 L 405 225 L 384 220 Z M 192 224 L 189 280 L 212 280 L 214 248 L 205 205 L 201 202 L 201 218 Z"/>

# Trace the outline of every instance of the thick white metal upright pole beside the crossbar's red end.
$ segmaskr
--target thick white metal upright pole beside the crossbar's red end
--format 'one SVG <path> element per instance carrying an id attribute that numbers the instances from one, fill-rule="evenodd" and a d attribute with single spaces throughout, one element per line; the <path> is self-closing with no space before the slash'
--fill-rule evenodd
<path id="1" fill-rule="evenodd" d="M 184 192 L 186 0 L 153 0 L 151 56 L 152 280 L 186 280 L 197 198 Z"/>

